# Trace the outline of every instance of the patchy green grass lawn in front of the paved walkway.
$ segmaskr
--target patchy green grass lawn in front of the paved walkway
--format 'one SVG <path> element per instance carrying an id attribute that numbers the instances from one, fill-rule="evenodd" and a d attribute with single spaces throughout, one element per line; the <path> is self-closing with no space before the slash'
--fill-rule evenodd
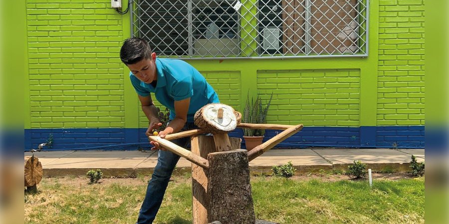
<path id="1" fill-rule="evenodd" d="M 251 177 L 256 218 L 281 224 L 424 223 L 424 178 L 377 178 L 370 188 L 366 180 L 329 177 Z M 148 177 L 102 181 L 43 179 L 39 193 L 25 195 L 25 223 L 135 223 Z M 189 177 L 175 176 L 155 223 L 191 224 L 191 189 Z"/>

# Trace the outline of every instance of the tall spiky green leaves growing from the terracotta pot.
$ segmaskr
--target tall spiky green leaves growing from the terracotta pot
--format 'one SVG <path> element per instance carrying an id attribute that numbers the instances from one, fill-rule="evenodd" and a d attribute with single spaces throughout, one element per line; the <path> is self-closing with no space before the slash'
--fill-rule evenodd
<path id="1" fill-rule="evenodd" d="M 271 99 L 273 98 L 273 93 L 270 95 L 270 99 L 266 104 L 266 107 L 262 106 L 262 100 L 259 94 L 257 94 L 256 99 L 251 97 L 251 102 L 249 101 L 249 93 L 246 98 L 245 108 L 243 109 L 243 116 L 241 122 L 243 123 L 265 123 L 266 114 L 268 113 L 268 108 L 271 104 Z M 243 135 L 245 136 L 263 136 L 265 134 L 265 129 L 249 129 L 243 128 Z"/>

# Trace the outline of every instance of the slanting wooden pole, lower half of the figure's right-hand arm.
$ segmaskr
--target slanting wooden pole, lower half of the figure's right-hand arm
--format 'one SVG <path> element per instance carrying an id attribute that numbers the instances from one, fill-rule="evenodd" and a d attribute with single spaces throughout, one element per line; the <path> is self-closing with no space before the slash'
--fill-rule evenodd
<path id="1" fill-rule="evenodd" d="M 262 155 L 264 152 L 270 150 L 272 147 L 279 144 L 281 141 L 300 131 L 302 127 L 303 127 L 302 124 L 298 124 L 296 126 L 292 125 L 290 128 L 280 132 L 278 135 L 274 136 L 268 141 L 262 143 L 261 145 L 257 145 L 248 152 L 248 161 L 257 158 L 257 156 Z"/>

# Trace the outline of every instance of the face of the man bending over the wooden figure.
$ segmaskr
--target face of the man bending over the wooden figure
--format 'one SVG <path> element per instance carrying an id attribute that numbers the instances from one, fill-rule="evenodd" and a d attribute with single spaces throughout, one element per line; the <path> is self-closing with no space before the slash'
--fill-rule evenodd
<path id="1" fill-rule="evenodd" d="M 156 74 L 156 53 L 154 52 L 150 58 L 144 58 L 135 64 L 127 66 L 134 76 L 144 83 L 150 84 L 158 78 Z"/>

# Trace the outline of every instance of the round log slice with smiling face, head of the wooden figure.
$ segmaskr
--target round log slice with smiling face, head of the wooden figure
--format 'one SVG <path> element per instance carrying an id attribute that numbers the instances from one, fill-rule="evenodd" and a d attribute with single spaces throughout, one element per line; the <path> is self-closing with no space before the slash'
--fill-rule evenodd
<path id="1" fill-rule="evenodd" d="M 213 134 L 226 133 L 237 127 L 236 115 L 234 109 L 225 104 L 208 104 L 195 113 L 195 124 Z"/>

